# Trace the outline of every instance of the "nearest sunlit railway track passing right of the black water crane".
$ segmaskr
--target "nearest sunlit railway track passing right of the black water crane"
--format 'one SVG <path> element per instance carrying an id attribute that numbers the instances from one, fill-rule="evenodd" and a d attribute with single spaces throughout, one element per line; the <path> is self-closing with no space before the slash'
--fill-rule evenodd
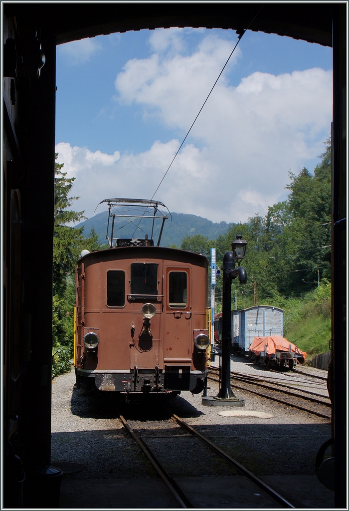
<path id="1" fill-rule="evenodd" d="M 213 374 L 214 376 L 218 376 L 218 371 L 212 370 L 212 368 L 209 370 L 209 374 L 210 373 Z M 212 381 L 216 381 L 216 382 L 219 381 L 217 378 L 212 378 L 212 376 L 209 376 L 208 378 Z M 240 390 L 246 390 L 247 392 L 257 394 L 257 396 L 261 396 L 263 398 L 267 398 L 272 401 L 276 401 L 276 402 L 284 404 L 286 406 L 298 408 L 299 410 L 303 410 L 308 413 L 312 413 L 313 415 L 317 415 L 319 417 L 322 417 L 323 419 L 328 419 L 329 421 L 331 420 L 331 414 L 326 413 L 326 408 L 331 407 L 330 400 L 328 400 L 328 401 L 320 400 L 320 399 L 317 399 L 315 397 L 311 397 L 308 395 L 306 395 L 306 396 L 302 395 L 301 394 L 302 390 L 298 390 L 297 393 L 292 392 L 291 390 L 285 389 L 284 384 L 279 385 L 279 383 L 277 383 L 275 385 L 272 385 L 270 383 L 261 383 L 260 381 L 256 381 L 256 377 L 248 377 L 248 378 L 240 377 L 240 376 L 237 376 L 236 373 L 234 373 L 234 374 L 231 374 L 231 380 L 233 380 L 231 385 L 234 388 L 238 388 Z M 241 383 L 243 383 L 243 386 L 236 384 L 234 380 L 240 381 Z M 266 380 L 264 379 L 264 381 L 266 381 Z M 257 391 L 254 388 L 251 388 L 251 386 L 252 387 L 258 386 L 258 387 L 266 388 L 269 390 L 269 393 Z M 278 388 L 278 386 L 279 386 L 279 388 Z M 285 399 L 280 398 L 280 393 L 286 394 L 286 396 L 288 398 L 287 401 Z M 289 397 L 291 397 L 292 400 L 290 400 Z M 301 404 L 302 400 L 303 400 L 303 402 L 310 401 L 310 402 L 318 405 L 317 409 L 304 406 L 304 404 Z"/>

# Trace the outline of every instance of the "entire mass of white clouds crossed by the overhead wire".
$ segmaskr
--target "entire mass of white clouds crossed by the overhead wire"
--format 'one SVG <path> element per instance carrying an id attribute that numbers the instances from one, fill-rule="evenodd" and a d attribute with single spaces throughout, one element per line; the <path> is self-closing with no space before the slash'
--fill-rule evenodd
<path id="1" fill-rule="evenodd" d="M 141 105 L 145 115 L 184 135 L 233 45 L 210 35 L 191 55 L 182 55 L 183 34 L 155 31 L 149 39 L 154 53 L 128 61 L 115 87 L 118 101 Z M 230 70 L 238 53 L 233 57 Z M 331 72 L 256 72 L 237 87 L 223 74 L 156 198 L 170 211 L 214 221 L 263 215 L 268 205 L 284 199 L 289 169 L 297 173 L 323 152 L 331 118 Z M 78 177 L 74 193 L 90 216 L 95 204 L 109 196 L 151 198 L 179 145 L 178 140 L 157 141 L 140 154 L 121 155 L 67 143 L 56 150 L 69 175 Z"/>

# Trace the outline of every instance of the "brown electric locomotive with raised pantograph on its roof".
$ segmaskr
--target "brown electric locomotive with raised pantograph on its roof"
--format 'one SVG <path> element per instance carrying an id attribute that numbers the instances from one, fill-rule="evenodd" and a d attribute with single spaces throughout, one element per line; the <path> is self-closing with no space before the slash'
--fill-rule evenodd
<path id="1" fill-rule="evenodd" d="M 162 212 L 157 216 L 161 202 L 106 202 L 112 218 L 110 248 L 83 251 L 77 265 L 77 383 L 93 378 L 97 389 L 127 397 L 133 392 L 201 392 L 209 346 L 208 261 L 201 254 L 159 246 L 167 218 Z M 126 204 L 130 210 L 140 202 L 146 211 L 154 208 L 152 235 L 154 219 L 162 219 L 157 246 L 152 235 L 113 237 L 113 207 L 120 210 Z"/>

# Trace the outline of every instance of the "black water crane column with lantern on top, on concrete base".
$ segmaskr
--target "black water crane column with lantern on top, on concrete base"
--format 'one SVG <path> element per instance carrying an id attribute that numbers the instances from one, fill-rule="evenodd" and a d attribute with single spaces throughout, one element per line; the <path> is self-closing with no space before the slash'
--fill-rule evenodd
<path id="1" fill-rule="evenodd" d="M 246 284 L 247 274 L 240 261 L 245 257 L 247 242 L 237 236 L 232 242 L 233 251 L 227 251 L 223 257 L 223 289 L 222 289 L 222 363 L 221 384 L 217 396 L 204 396 L 202 404 L 206 406 L 244 406 L 245 400 L 237 398 L 230 385 L 230 357 L 232 345 L 231 331 L 231 296 L 232 280 L 239 277 L 240 284 Z M 235 268 L 235 260 L 238 267 Z"/>

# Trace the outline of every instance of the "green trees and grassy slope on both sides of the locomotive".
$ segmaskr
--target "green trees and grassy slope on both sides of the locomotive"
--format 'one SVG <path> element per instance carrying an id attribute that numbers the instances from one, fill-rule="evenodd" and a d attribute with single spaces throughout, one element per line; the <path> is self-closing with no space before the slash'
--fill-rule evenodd
<path id="1" fill-rule="evenodd" d="M 217 251 L 217 265 L 231 250 L 236 235 L 247 241 L 242 265 L 247 285 L 232 285 L 237 308 L 254 305 L 254 283 L 258 305 L 281 307 L 284 336 L 311 357 L 329 349 L 331 338 L 331 143 L 325 143 L 320 163 L 310 173 L 303 168 L 290 173 L 287 200 L 269 206 L 244 223 L 231 223 L 225 234 L 210 240 L 201 234 L 187 235 L 180 248 L 200 252 L 210 259 Z M 58 154 L 56 154 L 56 160 Z M 83 227 L 72 222 L 85 219 L 84 212 L 70 209 L 78 197 L 68 197 L 74 178 L 67 178 L 63 165 L 55 164 L 55 228 L 53 288 L 53 377 L 70 369 L 73 343 L 74 271 L 82 248 L 102 247 L 92 228 L 86 237 Z M 216 311 L 221 310 L 221 278 L 217 278 Z M 309 358 L 308 357 L 308 358 Z"/>

